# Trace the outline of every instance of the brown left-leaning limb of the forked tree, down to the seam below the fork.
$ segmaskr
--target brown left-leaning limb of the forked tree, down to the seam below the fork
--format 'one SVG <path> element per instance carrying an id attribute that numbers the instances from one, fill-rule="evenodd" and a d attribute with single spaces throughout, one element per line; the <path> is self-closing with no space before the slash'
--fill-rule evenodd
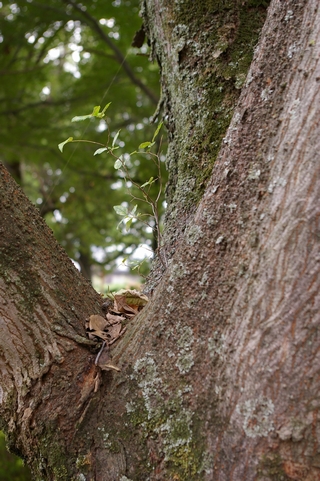
<path id="1" fill-rule="evenodd" d="M 101 298 L 3 166 L 0 193 L 2 424 L 38 479 L 59 479 L 96 374 L 84 321 Z"/>

